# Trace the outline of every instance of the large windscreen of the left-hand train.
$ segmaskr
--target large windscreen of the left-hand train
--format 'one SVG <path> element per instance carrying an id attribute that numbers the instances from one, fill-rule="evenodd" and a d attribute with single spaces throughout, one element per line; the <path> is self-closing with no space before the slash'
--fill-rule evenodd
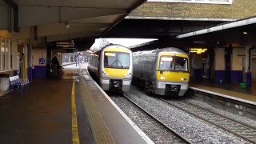
<path id="1" fill-rule="evenodd" d="M 104 67 L 115 69 L 129 69 L 130 54 L 120 52 L 105 52 Z"/>

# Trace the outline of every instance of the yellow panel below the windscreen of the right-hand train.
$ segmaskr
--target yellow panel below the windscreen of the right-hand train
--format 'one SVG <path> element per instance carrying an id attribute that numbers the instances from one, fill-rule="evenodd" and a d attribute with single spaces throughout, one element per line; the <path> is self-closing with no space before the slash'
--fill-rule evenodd
<path id="1" fill-rule="evenodd" d="M 171 71 L 157 71 L 157 80 L 160 82 L 189 82 L 190 73 L 171 72 Z"/>

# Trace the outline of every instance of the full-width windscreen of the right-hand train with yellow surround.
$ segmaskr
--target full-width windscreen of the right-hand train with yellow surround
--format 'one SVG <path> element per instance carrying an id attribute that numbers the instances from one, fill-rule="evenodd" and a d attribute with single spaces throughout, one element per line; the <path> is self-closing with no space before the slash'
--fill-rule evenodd
<path id="1" fill-rule="evenodd" d="M 162 56 L 160 59 L 159 70 L 188 71 L 188 59 Z"/>

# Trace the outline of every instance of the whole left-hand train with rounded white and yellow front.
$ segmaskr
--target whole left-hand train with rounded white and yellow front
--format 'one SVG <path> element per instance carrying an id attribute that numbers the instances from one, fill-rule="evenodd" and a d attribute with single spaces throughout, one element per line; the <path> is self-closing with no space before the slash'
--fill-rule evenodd
<path id="1" fill-rule="evenodd" d="M 88 70 L 98 78 L 102 90 L 129 91 L 133 77 L 132 51 L 108 45 L 90 54 Z"/>

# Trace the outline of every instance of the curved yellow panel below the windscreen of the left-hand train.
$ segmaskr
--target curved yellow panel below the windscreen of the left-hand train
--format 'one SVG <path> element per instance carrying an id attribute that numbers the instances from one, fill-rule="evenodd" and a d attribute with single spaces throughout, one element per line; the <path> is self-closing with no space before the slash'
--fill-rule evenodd
<path id="1" fill-rule="evenodd" d="M 129 69 L 104 68 L 104 70 L 112 78 L 125 78 L 129 73 Z"/>

